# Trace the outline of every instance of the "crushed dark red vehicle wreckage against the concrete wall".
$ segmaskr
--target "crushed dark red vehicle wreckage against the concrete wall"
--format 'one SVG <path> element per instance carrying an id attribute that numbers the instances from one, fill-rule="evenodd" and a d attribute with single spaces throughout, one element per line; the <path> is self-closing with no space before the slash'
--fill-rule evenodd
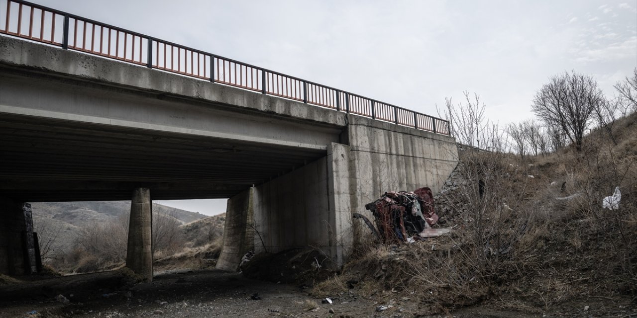
<path id="1" fill-rule="evenodd" d="M 380 234 L 376 235 L 385 243 L 415 242 L 451 230 L 431 227 L 438 222 L 438 215 L 434 212 L 433 194 L 429 188 L 419 188 L 413 192 L 386 192 L 378 200 L 366 204 L 365 208 L 376 219 L 378 232 L 369 221 L 366 223 L 373 233 Z"/>

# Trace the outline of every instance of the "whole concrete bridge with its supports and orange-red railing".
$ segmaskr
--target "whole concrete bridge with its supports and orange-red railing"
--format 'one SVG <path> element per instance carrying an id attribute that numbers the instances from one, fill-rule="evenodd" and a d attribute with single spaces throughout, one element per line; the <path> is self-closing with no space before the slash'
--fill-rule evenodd
<path id="1" fill-rule="evenodd" d="M 1 273 L 36 270 L 28 202 L 88 200 L 132 200 L 127 266 L 148 280 L 151 199 L 229 198 L 218 268 L 308 245 L 342 264 L 364 231 L 353 212 L 389 190 L 435 193 L 457 163 L 439 118 L 36 4 L 0 7 Z"/>

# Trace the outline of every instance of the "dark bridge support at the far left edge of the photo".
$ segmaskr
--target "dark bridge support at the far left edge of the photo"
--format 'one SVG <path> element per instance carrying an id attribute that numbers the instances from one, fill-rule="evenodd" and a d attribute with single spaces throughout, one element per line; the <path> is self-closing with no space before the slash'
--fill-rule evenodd
<path id="1" fill-rule="evenodd" d="M 0 215 L 0 273 L 37 273 L 39 249 L 34 240 L 31 204 L 0 198 Z"/>

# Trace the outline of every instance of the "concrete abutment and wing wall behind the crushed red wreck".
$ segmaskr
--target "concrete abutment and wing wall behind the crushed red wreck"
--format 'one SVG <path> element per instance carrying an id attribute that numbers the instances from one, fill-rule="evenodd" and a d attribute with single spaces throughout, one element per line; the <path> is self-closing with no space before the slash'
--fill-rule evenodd
<path id="1" fill-rule="evenodd" d="M 354 118 L 349 145 L 332 143 L 327 156 L 257 186 L 255 220 L 264 243 L 257 252 L 314 246 L 342 265 L 368 230 L 352 220 L 385 191 L 427 186 L 437 193 L 457 165 L 448 136 Z M 371 123 L 371 124 L 370 124 Z"/>

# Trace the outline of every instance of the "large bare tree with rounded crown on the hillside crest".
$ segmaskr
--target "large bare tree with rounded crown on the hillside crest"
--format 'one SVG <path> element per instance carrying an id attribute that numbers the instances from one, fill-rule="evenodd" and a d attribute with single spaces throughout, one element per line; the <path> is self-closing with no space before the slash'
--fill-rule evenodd
<path id="1" fill-rule="evenodd" d="M 573 71 L 550 78 L 535 94 L 531 108 L 547 125 L 559 127 L 580 151 L 592 114 L 603 102 L 597 81 Z"/>

